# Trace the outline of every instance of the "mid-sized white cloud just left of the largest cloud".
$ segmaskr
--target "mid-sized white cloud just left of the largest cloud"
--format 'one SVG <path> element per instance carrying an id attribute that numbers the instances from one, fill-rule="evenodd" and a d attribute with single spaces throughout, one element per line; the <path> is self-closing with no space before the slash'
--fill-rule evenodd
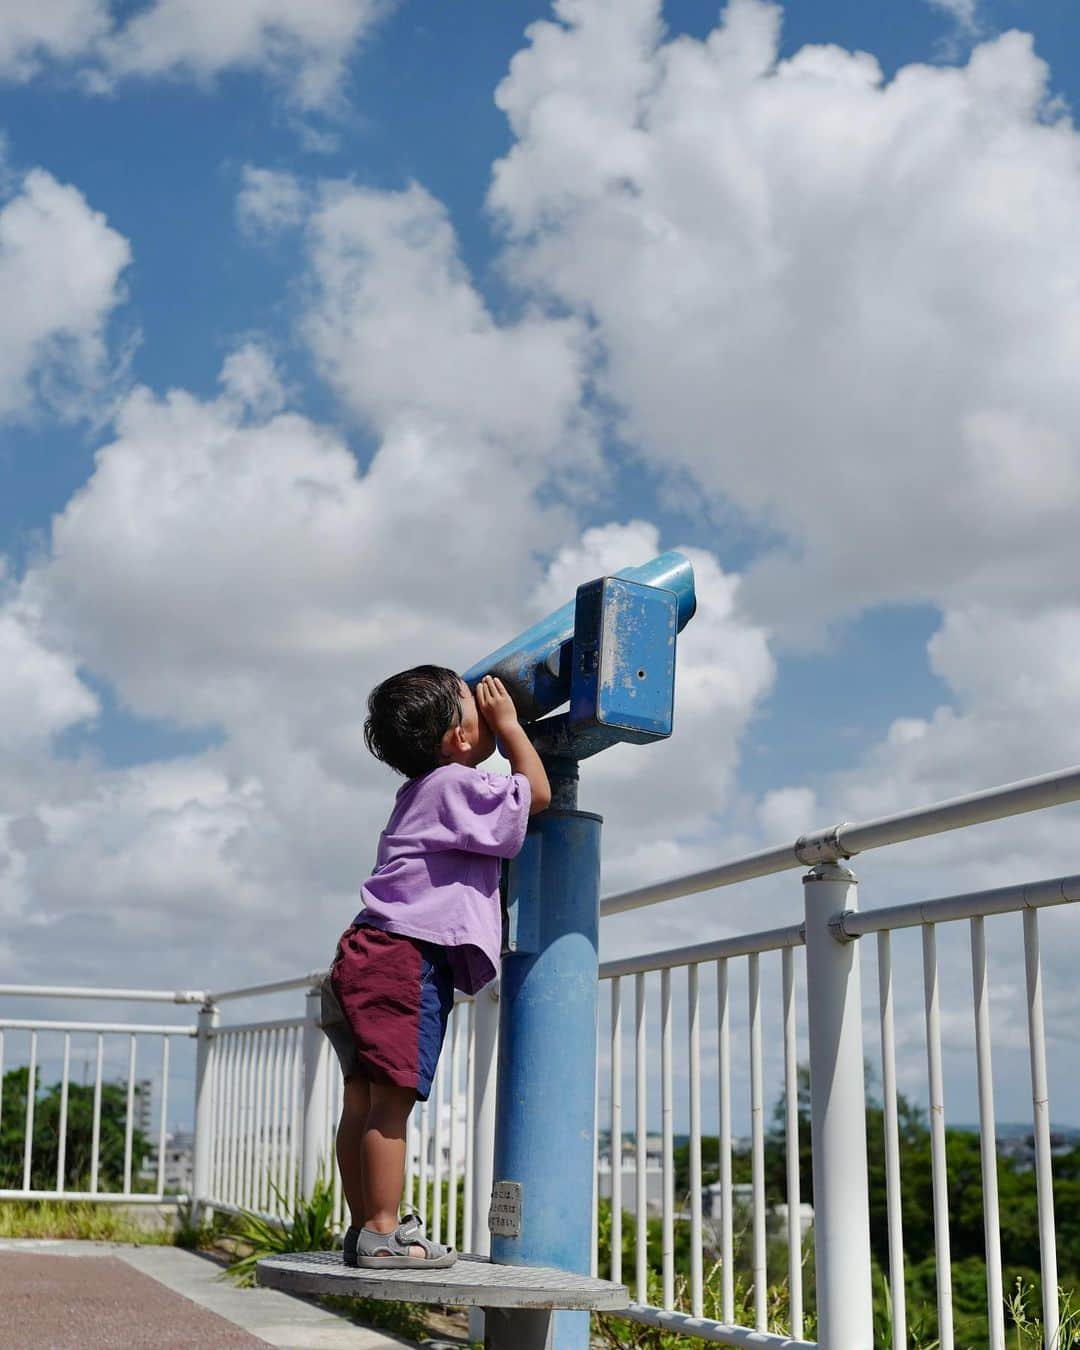
<path id="1" fill-rule="evenodd" d="M 543 312 L 497 321 L 446 209 L 418 185 L 329 185 L 308 228 L 316 296 L 306 336 L 347 406 L 379 428 L 412 409 L 451 435 L 479 432 L 525 482 L 567 462 L 587 467 L 580 321 Z"/>

